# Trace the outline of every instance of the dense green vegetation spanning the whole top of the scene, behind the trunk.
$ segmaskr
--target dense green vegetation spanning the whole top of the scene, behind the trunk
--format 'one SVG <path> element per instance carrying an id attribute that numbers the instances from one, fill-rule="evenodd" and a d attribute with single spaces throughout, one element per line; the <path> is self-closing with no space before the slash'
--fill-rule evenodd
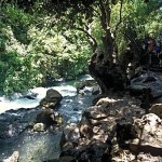
<path id="1" fill-rule="evenodd" d="M 102 38 L 108 27 L 122 62 L 129 41 L 162 32 L 160 6 L 160 0 L 1 1 L 0 90 L 22 92 L 49 78 L 87 72 L 92 53 L 106 49 Z"/>

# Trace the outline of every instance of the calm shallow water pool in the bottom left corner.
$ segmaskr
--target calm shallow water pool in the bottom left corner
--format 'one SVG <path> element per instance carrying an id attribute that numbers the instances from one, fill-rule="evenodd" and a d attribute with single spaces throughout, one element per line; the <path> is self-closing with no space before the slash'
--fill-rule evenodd
<path id="1" fill-rule="evenodd" d="M 49 133 L 22 134 L 14 140 L 3 140 L 0 147 L 0 159 L 5 159 L 17 150 L 21 162 L 43 162 L 59 156 L 60 134 Z"/>

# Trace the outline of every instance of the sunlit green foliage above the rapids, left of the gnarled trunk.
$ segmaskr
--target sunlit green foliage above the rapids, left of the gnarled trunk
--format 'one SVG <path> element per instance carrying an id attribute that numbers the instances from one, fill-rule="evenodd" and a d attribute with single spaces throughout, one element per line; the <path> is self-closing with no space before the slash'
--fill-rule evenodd
<path id="1" fill-rule="evenodd" d="M 91 50 L 81 31 L 59 32 L 58 26 L 51 26 L 53 16 L 36 17 L 14 5 L 2 11 L 1 91 L 23 92 L 45 82 L 46 76 L 75 79 L 86 71 Z"/>

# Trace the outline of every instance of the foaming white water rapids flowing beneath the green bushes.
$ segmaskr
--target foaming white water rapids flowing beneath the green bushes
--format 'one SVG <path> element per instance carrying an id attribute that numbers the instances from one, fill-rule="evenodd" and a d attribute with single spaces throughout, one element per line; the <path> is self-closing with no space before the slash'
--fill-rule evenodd
<path id="1" fill-rule="evenodd" d="M 91 76 L 85 75 L 80 80 L 92 80 Z M 51 86 L 51 87 L 36 87 L 29 91 L 29 93 L 37 94 L 35 99 L 28 99 L 23 97 L 21 94 L 15 93 L 12 96 L 12 99 L 6 98 L 4 95 L 0 96 L 0 113 L 5 112 L 10 109 L 16 110 L 19 108 L 33 108 L 39 105 L 39 102 L 45 97 L 46 91 L 49 89 L 54 89 L 58 91 L 63 97 L 65 96 L 76 96 L 77 89 L 73 85 L 70 85 L 69 82 L 64 82 L 58 86 Z"/>

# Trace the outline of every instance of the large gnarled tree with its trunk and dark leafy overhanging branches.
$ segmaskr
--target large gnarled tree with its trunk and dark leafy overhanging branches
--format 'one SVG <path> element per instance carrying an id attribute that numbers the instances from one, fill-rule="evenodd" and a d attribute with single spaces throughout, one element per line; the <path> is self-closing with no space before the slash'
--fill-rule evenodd
<path id="1" fill-rule="evenodd" d="M 118 3 L 119 19 L 114 27 L 111 23 L 111 8 Z M 113 62 L 116 55 L 114 37 L 121 23 L 123 0 L 80 0 L 80 1 L 57 1 L 52 5 L 52 1 L 44 3 L 48 10 L 55 12 L 57 25 L 60 30 L 71 28 L 85 33 L 87 41 L 92 45 L 93 55 L 89 62 L 90 75 L 97 81 L 102 93 L 107 93 L 109 89 L 123 90 L 125 87 L 125 76 L 118 63 Z M 92 23 L 98 19 L 100 28 L 100 40 L 103 48 L 98 48 L 98 41 L 92 33 Z M 55 21 L 53 22 L 55 24 Z M 112 33 L 113 28 L 113 33 Z"/>

